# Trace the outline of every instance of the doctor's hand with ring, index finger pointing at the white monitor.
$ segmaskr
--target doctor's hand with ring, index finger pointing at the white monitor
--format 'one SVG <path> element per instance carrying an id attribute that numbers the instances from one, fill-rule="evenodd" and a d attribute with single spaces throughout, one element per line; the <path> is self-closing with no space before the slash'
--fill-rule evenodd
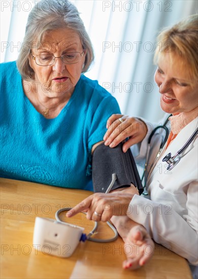
<path id="1" fill-rule="evenodd" d="M 130 201 L 134 194 L 121 193 L 121 191 L 104 194 L 95 193 L 67 212 L 67 217 L 72 217 L 79 212 L 87 212 L 87 219 L 107 222 L 113 215 L 126 215 L 130 210 Z"/>

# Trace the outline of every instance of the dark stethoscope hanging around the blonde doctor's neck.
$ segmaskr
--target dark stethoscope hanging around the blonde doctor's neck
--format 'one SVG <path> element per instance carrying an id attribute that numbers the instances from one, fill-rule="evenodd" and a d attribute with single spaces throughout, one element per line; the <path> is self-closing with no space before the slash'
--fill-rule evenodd
<path id="1" fill-rule="evenodd" d="M 171 115 L 169 115 L 170 117 Z M 142 182 L 143 182 L 143 179 L 145 177 L 145 173 L 146 173 L 146 169 L 147 169 L 147 165 L 148 165 L 148 158 L 149 158 L 149 153 L 150 153 L 150 143 L 151 143 L 151 139 L 152 139 L 152 136 L 154 135 L 154 133 L 158 130 L 158 129 L 163 129 L 165 131 L 165 136 L 164 136 L 164 139 L 162 140 L 161 142 L 161 145 L 159 147 L 159 152 L 157 153 L 153 163 L 151 164 L 150 166 L 150 170 L 152 168 L 152 166 L 155 164 L 156 160 L 158 159 L 160 153 L 161 153 L 161 150 L 162 148 L 164 147 L 164 145 L 166 144 L 167 140 L 168 140 L 168 137 L 169 137 L 169 129 L 167 128 L 167 123 L 169 122 L 169 117 L 167 118 L 167 120 L 164 122 L 163 125 L 159 125 L 157 127 L 155 127 L 153 129 L 153 131 L 151 132 L 149 138 L 148 138 L 148 147 L 147 147 L 147 153 L 146 153 L 146 163 L 145 163 L 145 167 L 144 167 L 144 171 L 143 171 L 143 176 L 142 176 Z M 174 155 L 172 156 L 171 153 L 167 154 L 163 159 L 162 161 L 163 162 L 167 162 L 168 166 L 167 166 L 167 170 L 171 170 L 173 169 L 180 161 L 180 158 L 181 158 L 181 154 L 186 150 L 186 148 L 191 144 L 191 142 L 194 140 L 194 138 L 196 137 L 196 135 L 198 134 L 198 128 L 196 128 L 196 130 L 192 133 L 192 135 L 190 136 L 189 140 L 185 143 L 185 145 Z M 146 177 L 145 181 L 144 181 L 144 189 L 146 187 L 146 182 L 147 182 L 147 178 L 148 176 Z M 148 195 L 147 191 L 144 191 L 143 192 L 144 195 Z"/>

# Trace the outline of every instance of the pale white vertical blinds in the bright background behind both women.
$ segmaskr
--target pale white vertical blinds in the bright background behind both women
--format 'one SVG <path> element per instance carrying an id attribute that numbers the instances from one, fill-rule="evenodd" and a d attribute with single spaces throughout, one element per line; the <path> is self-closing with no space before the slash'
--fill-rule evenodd
<path id="1" fill-rule="evenodd" d="M 29 11 L 37 2 L 1 0 L 1 62 L 17 59 Z M 115 96 L 123 114 L 157 121 L 163 112 L 153 80 L 155 38 L 161 28 L 197 13 L 197 1 L 71 2 L 81 14 L 94 48 L 95 61 L 86 76 Z"/>

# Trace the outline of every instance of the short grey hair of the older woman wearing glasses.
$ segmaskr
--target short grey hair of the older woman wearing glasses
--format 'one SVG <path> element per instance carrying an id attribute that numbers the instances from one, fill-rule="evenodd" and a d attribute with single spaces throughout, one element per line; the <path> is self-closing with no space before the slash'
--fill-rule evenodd
<path id="1" fill-rule="evenodd" d="M 23 79 L 29 80 L 34 75 L 28 61 L 32 45 L 41 43 L 46 31 L 58 28 L 70 28 L 79 34 L 83 49 L 86 50 L 82 73 L 88 71 L 94 59 L 93 47 L 77 8 L 68 0 L 41 0 L 29 13 L 17 59 L 17 67 Z"/>

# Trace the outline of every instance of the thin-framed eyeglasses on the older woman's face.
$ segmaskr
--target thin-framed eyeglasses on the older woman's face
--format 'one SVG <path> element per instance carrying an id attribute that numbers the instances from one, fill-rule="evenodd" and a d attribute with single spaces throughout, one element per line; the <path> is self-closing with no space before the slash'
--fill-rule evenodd
<path id="1" fill-rule="evenodd" d="M 53 65 L 56 58 L 60 58 L 64 64 L 75 64 L 80 61 L 83 55 L 84 52 L 69 52 L 57 57 L 51 54 L 41 54 L 37 56 L 31 54 L 31 57 L 39 66 L 50 66 Z"/>

